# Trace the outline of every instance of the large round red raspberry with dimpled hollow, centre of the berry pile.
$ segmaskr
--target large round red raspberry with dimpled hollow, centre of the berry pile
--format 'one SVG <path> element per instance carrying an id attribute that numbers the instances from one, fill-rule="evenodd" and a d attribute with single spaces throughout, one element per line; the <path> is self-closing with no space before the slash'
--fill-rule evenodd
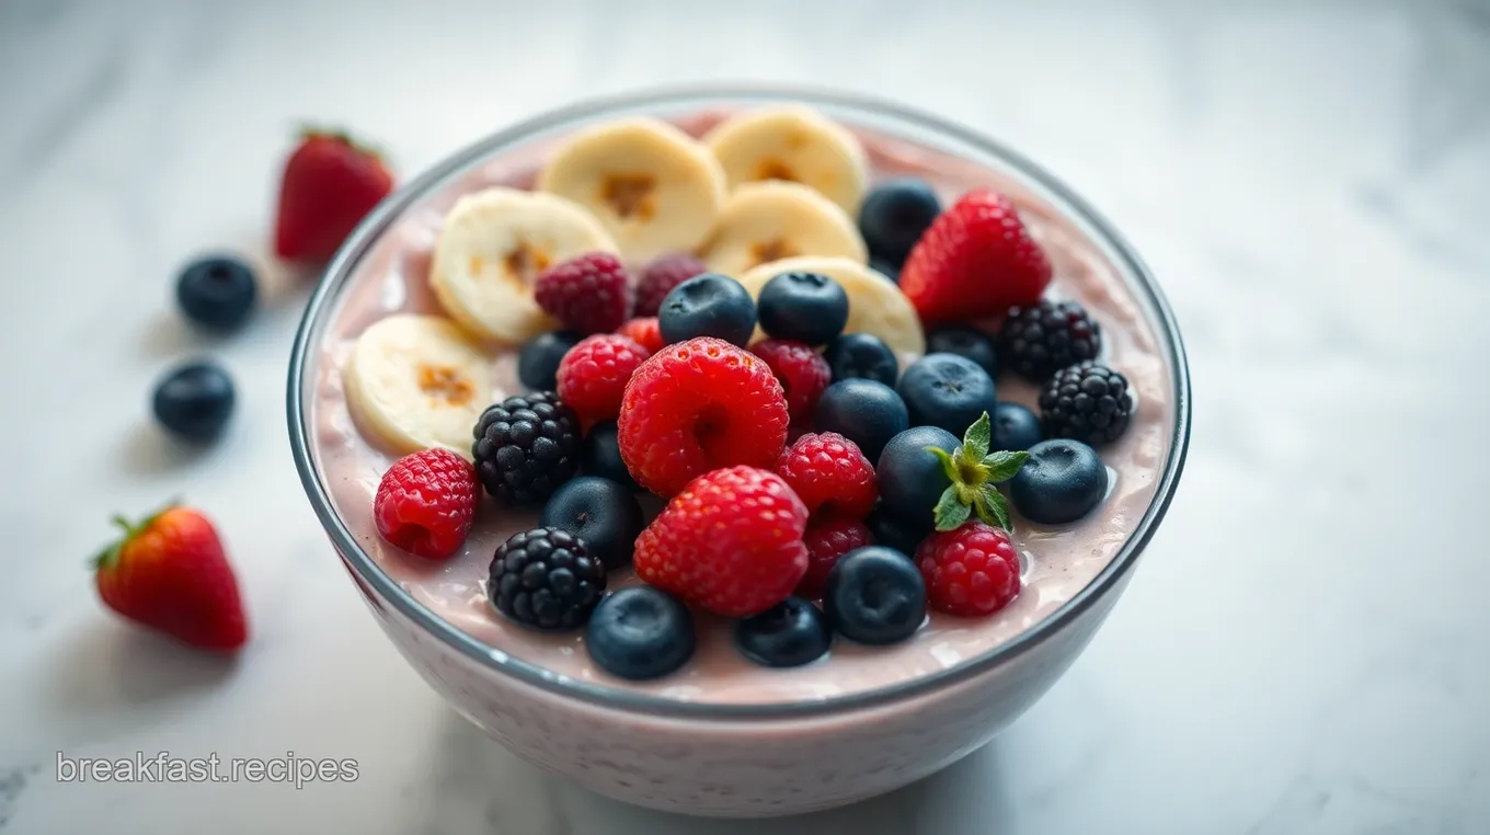
<path id="1" fill-rule="evenodd" d="M 711 470 L 775 467 L 787 423 L 787 398 L 761 358 L 697 337 L 665 347 L 632 374 L 617 443 L 636 483 L 670 497 Z"/>

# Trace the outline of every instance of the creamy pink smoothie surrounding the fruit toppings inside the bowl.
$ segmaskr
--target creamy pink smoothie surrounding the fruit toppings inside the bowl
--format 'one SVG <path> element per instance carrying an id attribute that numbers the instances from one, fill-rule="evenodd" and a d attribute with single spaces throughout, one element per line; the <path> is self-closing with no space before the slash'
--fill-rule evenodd
<path id="1" fill-rule="evenodd" d="M 682 127 L 699 134 L 717 119 L 718 115 L 696 116 Z M 690 702 L 802 702 L 875 690 L 985 655 L 1071 599 L 1128 540 L 1153 500 L 1168 455 L 1174 431 L 1173 382 L 1156 333 L 1103 250 L 1080 230 L 1046 210 L 1019 183 L 922 146 L 858 133 L 876 177 L 922 176 L 948 203 L 973 186 L 994 186 L 1009 194 L 1055 265 L 1050 295 L 1076 300 L 1098 319 L 1103 359 L 1128 377 L 1137 400 L 1129 429 L 1100 450 L 1112 486 L 1097 510 L 1062 526 L 1040 526 L 1016 516 L 1015 544 L 1024 567 L 1024 587 L 1010 605 L 976 620 L 933 613 L 912 638 L 891 647 L 860 647 L 834 638 L 827 656 L 793 669 L 751 664 L 735 650 L 726 622 L 700 614 L 694 659 L 672 675 L 638 683 L 615 678 L 590 664 L 581 632 L 538 634 L 505 620 L 487 604 L 483 586 L 493 550 L 511 534 L 535 526 L 535 513 L 513 511 L 486 498 L 463 552 L 443 564 L 431 564 L 381 541 L 372 526 L 372 495 L 396 456 L 359 432 L 343 395 L 341 367 L 356 335 L 377 319 L 398 312 L 441 312 L 428 288 L 428 270 L 444 210 L 462 194 L 483 186 L 529 185 L 535 166 L 551 145 L 529 146 L 490 161 L 413 209 L 372 246 L 337 303 L 314 368 L 311 452 L 337 513 L 356 541 L 414 599 L 483 641 L 498 658 L 513 656 L 568 678 Z M 522 392 L 516 353 L 493 349 L 492 356 L 498 400 Z M 998 380 L 998 398 L 1036 407 L 1036 389 L 1009 377 Z M 644 501 L 644 507 L 654 510 L 660 501 L 653 500 L 651 505 Z M 636 582 L 630 571 L 609 576 L 612 589 Z"/>

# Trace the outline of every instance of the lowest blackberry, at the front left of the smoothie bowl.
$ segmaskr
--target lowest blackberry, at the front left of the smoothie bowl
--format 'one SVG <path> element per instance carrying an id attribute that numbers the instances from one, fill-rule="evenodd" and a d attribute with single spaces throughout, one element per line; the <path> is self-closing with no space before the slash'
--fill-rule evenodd
<path id="1" fill-rule="evenodd" d="M 559 528 L 523 531 L 498 546 L 486 586 L 498 611 L 539 629 L 584 625 L 603 592 L 605 567 Z"/>

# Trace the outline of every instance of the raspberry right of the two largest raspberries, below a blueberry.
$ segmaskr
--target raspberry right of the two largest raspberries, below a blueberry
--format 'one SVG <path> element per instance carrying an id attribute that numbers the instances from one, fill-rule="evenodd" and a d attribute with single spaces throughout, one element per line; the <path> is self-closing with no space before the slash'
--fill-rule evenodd
<path id="1" fill-rule="evenodd" d="M 796 491 L 814 520 L 836 516 L 863 522 L 879 498 L 875 465 L 858 444 L 837 432 L 797 438 L 782 450 L 776 474 Z"/>

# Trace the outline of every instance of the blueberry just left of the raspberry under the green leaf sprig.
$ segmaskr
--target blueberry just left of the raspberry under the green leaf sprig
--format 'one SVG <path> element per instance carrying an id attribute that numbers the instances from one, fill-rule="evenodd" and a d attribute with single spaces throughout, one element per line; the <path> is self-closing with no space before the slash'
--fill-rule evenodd
<path id="1" fill-rule="evenodd" d="M 822 611 L 860 644 L 894 644 L 927 616 L 927 584 L 910 558 L 884 546 L 854 549 L 828 571 Z"/>

